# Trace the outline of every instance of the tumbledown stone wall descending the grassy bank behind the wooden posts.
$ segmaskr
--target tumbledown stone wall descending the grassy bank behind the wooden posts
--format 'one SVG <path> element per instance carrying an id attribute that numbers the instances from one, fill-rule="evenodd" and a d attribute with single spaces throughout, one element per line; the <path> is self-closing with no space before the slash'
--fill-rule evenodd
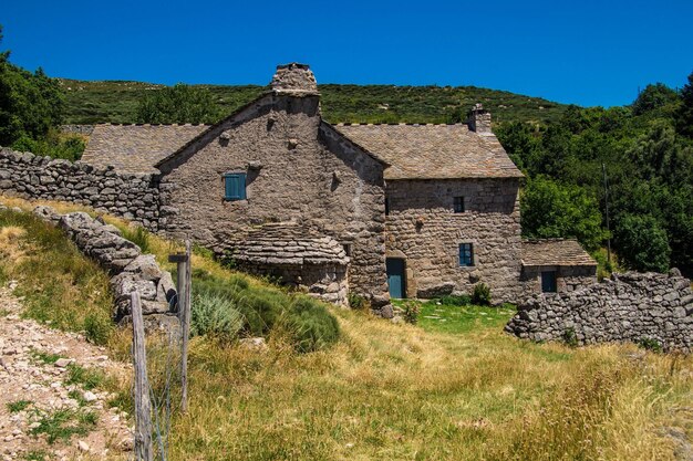
<path id="1" fill-rule="evenodd" d="M 152 254 L 142 254 L 139 247 L 124 239 L 113 227 L 84 212 L 60 214 L 50 207 L 37 207 L 34 214 L 59 226 L 77 248 L 107 269 L 115 297 L 114 318 L 131 314 L 130 296 L 138 292 L 144 315 L 172 311 L 176 290 L 170 274 L 163 271 Z"/>

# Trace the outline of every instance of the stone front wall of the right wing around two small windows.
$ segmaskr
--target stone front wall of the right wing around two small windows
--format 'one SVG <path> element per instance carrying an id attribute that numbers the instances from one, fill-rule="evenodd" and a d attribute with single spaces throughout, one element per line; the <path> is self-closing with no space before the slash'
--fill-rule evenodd
<path id="1" fill-rule="evenodd" d="M 389 181 L 387 255 L 405 259 L 407 296 L 470 293 L 484 282 L 494 302 L 516 301 L 518 190 L 518 179 Z M 454 212 L 454 197 L 464 197 L 464 212 Z M 473 266 L 459 265 L 461 243 L 473 244 Z"/>

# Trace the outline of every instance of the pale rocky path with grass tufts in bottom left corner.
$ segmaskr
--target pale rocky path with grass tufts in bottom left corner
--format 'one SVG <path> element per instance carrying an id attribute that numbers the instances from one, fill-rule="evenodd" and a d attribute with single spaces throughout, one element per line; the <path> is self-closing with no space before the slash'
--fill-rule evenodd
<path id="1" fill-rule="evenodd" d="M 99 389 L 127 365 L 79 334 L 21 318 L 12 285 L 0 287 L 0 458 L 128 458 L 128 417 L 108 408 L 113 396 Z"/>

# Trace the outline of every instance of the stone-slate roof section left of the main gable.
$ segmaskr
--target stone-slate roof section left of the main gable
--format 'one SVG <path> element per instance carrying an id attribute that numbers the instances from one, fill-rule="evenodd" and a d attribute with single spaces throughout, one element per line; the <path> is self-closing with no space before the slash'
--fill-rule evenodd
<path id="1" fill-rule="evenodd" d="M 154 165 L 209 125 L 96 125 L 82 161 L 118 172 L 156 174 Z"/>

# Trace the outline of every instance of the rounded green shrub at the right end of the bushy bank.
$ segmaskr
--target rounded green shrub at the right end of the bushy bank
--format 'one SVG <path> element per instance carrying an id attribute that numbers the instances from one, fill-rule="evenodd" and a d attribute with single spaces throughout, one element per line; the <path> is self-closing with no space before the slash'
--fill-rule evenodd
<path id="1" fill-rule="evenodd" d="M 320 302 L 299 296 L 287 312 L 293 346 L 300 353 L 320 350 L 340 337 L 339 323 Z"/>

